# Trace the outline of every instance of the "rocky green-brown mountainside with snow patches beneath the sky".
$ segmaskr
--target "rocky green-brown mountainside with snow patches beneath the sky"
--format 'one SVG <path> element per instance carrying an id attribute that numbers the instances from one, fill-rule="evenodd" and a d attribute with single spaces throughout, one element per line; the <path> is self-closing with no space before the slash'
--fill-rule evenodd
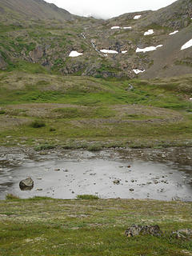
<path id="1" fill-rule="evenodd" d="M 192 71 L 192 47 L 181 50 L 192 38 L 191 0 L 106 21 L 74 16 L 43 0 L 0 0 L 0 13 L 4 70 L 25 70 L 25 63 L 31 63 L 52 73 L 96 78 L 158 78 Z M 145 48 L 150 51 L 142 52 Z M 70 57 L 72 51 L 78 56 Z"/>

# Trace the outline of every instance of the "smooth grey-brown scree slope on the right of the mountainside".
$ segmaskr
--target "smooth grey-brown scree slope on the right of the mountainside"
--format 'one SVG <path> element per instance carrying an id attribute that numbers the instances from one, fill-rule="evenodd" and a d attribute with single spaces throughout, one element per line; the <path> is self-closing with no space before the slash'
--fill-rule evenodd
<path id="1" fill-rule="evenodd" d="M 192 50 L 181 47 L 192 38 L 192 24 L 167 38 L 161 49 L 154 51 L 150 66 L 142 78 L 170 77 L 191 73 Z"/>

